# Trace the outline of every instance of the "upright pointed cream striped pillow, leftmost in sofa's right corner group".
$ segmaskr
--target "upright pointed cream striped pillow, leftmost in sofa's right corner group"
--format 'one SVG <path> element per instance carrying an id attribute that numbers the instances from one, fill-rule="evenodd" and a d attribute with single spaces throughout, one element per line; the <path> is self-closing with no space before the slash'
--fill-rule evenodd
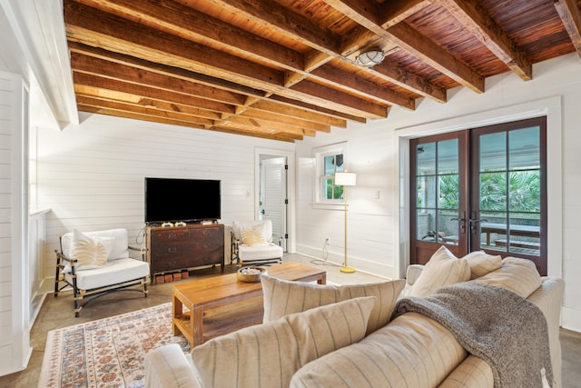
<path id="1" fill-rule="evenodd" d="M 409 289 L 407 296 L 428 296 L 443 285 L 468 282 L 470 267 L 464 258 L 458 259 L 442 245 L 430 257 L 419 275 L 418 280 Z"/>

